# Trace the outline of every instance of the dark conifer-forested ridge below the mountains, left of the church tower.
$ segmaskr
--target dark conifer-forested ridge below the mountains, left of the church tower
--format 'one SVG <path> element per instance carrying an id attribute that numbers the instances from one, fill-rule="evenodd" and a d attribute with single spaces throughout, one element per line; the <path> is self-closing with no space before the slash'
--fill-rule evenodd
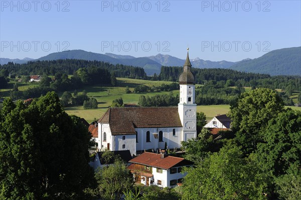
<path id="1" fill-rule="evenodd" d="M 116 77 L 144 79 L 146 74 L 143 68 L 125 65 L 113 65 L 100 61 L 87 60 L 52 60 L 52 61 L 30 61 L 26 64 L 14 64 L 12 62 L 6 65 L 0 65 L 0 70 L 7 70 L 8 73 L 15 75 L 55 75 L 57 72 L 74 74 L 79 68 L 99 67 L 114 73 Z"/>

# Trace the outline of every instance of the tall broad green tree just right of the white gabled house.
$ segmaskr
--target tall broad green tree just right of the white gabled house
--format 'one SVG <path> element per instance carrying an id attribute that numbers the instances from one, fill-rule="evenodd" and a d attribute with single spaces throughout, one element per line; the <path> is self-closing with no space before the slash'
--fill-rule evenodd
<path id="1" fill-rule="evenodd" d="M 260 130 L 283 109 L 281 97 L 267 88 L 243 93 L 238 98 L 230 107 L 229 117 L 232 119 L 232 130 L 244 152 L 250 153 L 256 149 L 257 143 L 262 141 Z"/>

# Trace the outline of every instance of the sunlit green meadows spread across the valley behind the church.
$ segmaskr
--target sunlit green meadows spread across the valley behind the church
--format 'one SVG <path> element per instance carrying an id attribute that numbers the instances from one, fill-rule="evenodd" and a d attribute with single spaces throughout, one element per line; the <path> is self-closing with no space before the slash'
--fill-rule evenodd
<path id="1" fill-rule="evenodd" d="M 13 81 L 14 82 L 14 81 Z M 86 119 L 89 123 L 92 122 L 94 119 L 99 119 L 111 105 L 114 99 L 122 97 L 123 103 L 125 104 L 137 104 L 140 95 L 148 95 L 148 96 L 155 96 L 157 94 L 169 94 L 170 92 L 162 92 L 162 91 L 155 91 L 155 92 L 147 92 L 147 93 L 125 93 L 126 86 L 129 87 L 131 91 L 134 90 L 134 87 L 146 85 L 148 87 L 152 86 L 160 86 L 162 84 L 171 84 L 172 82 L 169 81 L 147 81 L 147 80 L 139 80 L 139 79 L 126 79 L 126 78 L 117 78 L 117 85 L 115 87 L 109 85 L 94 85 L 94 86 L 87 86 L 77 92 L 82 92 L 85 90 L 89 97 L 94 97 L 97 99 L 98 108 L 97 109 L 83 109 L 83 106 L 74 106 L 74 107 L 67 107 L 65 108 L 68 114 L 76 115 Z M 13 83 L 12 84 L 13 88 Z M 37 87 L 39 83 L 20 83 L 18 89 L 20 91 L 24 91 L 28 88 Z M 202 85 L 196 85 L 196 90 L 200 88 Z M 250 91 L 251 88 L 246 87 L 246 91 Z M 11 89 L 2 89 L 2 96 L 9 96 Z M 73 91 L 69 91 L 72 92 Z M 174 95 L 179 94 L 179 90 L 173 91 Z M 58 93 L 59 96 L 62 93 Z M 294 92 L 292 94 L 293 101 L 296 101 L 296 97 L 298 92 Z M 294 106 L 285 106 L 290 107 L 294 110 L 300 110 L 301 107 L 294 107 Z M 229 105 L 207 105 L 207 106 L 197 106 L 198 112 L 204 112 L 207 120 L 212 119 L 214 116 L 218 114 L 226 114 L 230 110 Z"/>

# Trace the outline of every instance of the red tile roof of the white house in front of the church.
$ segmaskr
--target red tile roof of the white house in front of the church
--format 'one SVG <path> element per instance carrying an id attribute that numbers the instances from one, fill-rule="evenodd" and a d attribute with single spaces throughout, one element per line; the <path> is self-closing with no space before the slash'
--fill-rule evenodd
<path id="1" fill-rule="evenodd" d="M 129 162 L 161 169 L 170 169 L 173 166 L 185 166 L 193 164 L 192 162 L 185 160 L 184 158 L 169 155 L 161 158 L 161 154 L 149 152 L 144 152 L 141 155 L 138 155 L 137 157 L 131 159 Z"/>

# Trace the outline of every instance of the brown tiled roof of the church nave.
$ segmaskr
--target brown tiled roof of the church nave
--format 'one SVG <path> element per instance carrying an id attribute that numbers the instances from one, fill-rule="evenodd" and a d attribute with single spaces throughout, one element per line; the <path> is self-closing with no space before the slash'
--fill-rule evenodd
<path id="1" fill-rule="evenodd" d="M 178 107 L 109 108 L 98 122 L 109 123 L 112 135 L 136 134 L 135 128 L 182 127 Z"/>

